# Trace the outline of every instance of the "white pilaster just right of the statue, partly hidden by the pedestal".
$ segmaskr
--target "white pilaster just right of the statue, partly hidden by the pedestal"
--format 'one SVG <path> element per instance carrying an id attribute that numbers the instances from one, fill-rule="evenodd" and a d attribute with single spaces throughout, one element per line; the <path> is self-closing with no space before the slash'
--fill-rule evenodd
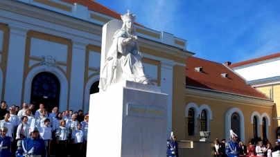
<path id="1" fill-rule="evenodd" d="M 170 132 L 172 131 L 172 93 L 173 93 L 173 61 L 161 61 L 161 93 L 168 94 L 167 103 L 167 135 L 166 139 L 170 139 Z"/>

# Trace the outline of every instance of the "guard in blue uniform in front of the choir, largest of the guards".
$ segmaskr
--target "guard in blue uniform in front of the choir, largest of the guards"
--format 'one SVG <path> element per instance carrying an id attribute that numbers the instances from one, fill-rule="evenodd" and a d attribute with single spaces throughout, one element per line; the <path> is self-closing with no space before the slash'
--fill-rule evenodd
<path id="1" fill-rule="evenodd" d="M 46 157 L 44 140 L 40 138 L 37 127 L 30 127 L 30 137 L 22 140 L 21 147 L 15 152 L 17 157 Z"/>

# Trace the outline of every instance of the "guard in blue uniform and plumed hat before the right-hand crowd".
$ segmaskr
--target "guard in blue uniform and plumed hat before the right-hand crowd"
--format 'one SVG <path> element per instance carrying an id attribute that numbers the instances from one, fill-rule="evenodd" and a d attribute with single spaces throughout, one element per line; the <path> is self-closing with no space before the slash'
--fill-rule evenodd
<path id="1" fill-rule="evenodd" d="M 234 131 L 230 130 L 230 140 L 225 143 L 225 153 L 228 157 L 239 156 L 239 146 L 237 142 L 237 135 Z"/>

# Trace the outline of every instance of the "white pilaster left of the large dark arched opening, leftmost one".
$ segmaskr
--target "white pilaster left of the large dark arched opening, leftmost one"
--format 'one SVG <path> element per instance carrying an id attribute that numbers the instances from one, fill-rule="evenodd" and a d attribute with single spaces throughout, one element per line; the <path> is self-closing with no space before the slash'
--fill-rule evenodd
<path id="1" fill-rule="evenodd" d="M 26 33 L 28 28 L 14 24 L 9 24 L 8 27 L 10 28 L 10 39 L 4 100 L 10 105 L 21 105 L 21 91 L 24 84 Z"/>

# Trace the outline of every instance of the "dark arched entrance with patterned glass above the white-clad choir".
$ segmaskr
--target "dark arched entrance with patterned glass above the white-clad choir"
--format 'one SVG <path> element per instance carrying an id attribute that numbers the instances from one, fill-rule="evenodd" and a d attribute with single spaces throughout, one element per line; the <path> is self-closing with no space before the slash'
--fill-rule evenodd
<path id="1" fill-rule="evenodd" d="M 35 104 L 35 109 L 39 109 L 40 103 L 51 113 L 53 107 L 59 107 L 60 102 L 60 82 L 52 73 L 42 72 L 35 75 L 32 80 L 30 103 Z"/>

